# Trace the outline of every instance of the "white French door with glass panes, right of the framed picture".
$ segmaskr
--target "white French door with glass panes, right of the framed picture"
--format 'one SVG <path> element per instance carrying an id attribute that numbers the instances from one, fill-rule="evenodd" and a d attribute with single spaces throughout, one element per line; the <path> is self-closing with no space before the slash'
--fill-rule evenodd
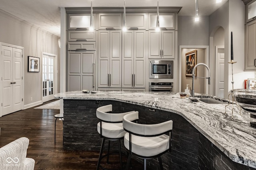
<path id="1" fill-rule="evenodd" d="M 54 99 L 56 93 L 56 56 L 43 53 L 42 57 L 42 93 L 43 102 Z"/>

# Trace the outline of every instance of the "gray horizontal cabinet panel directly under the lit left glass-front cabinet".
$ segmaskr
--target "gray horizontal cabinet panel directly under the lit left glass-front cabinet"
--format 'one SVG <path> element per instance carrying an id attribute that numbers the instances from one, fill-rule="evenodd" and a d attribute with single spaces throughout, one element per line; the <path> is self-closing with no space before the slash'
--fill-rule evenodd
<path id="1" fill-rule="evenodd" d="M 68 31 L 68 41 L 96 41 L 96 31 Z"/>

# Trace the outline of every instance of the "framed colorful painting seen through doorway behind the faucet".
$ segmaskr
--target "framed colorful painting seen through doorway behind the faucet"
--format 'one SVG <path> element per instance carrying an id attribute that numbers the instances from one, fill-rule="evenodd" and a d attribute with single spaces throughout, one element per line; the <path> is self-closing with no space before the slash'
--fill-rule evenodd
<path id="1" fill-rule="evenodd" d="M 197 50 L 186 53 L 186 77 L 192 77 L 192 71 L 197 64 Z M 196 70 L 195 70 L 196 76 Z"/>

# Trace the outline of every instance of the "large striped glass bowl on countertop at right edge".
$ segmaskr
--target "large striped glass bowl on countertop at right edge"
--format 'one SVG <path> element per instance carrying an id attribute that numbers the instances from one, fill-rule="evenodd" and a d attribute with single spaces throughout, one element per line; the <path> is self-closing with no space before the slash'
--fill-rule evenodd
<path id="1" fill-rule="evenodd" d="M 237 104 L 250 113 L 250 125 L 256 127 L 256 90 L 234 89 Z"/>

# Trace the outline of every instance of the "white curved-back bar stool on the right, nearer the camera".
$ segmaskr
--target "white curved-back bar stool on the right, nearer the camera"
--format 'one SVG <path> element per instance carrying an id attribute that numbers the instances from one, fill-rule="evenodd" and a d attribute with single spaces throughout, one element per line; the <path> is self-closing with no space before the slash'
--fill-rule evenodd
<path id="1" fill-rule="evenodd" d="M 152 125 L 132 122 L 138 118 L 138 111 L 123 117 L 123 127 L 128 132 L 124 135 L 124 146 L 129 152 L 126 170 L 132 155 L 144 159 L 144 170 L 146 159 L 158 157 L 160 169 L 163 170 L 161 155 L 171 151 L 172 120 Z"/>

